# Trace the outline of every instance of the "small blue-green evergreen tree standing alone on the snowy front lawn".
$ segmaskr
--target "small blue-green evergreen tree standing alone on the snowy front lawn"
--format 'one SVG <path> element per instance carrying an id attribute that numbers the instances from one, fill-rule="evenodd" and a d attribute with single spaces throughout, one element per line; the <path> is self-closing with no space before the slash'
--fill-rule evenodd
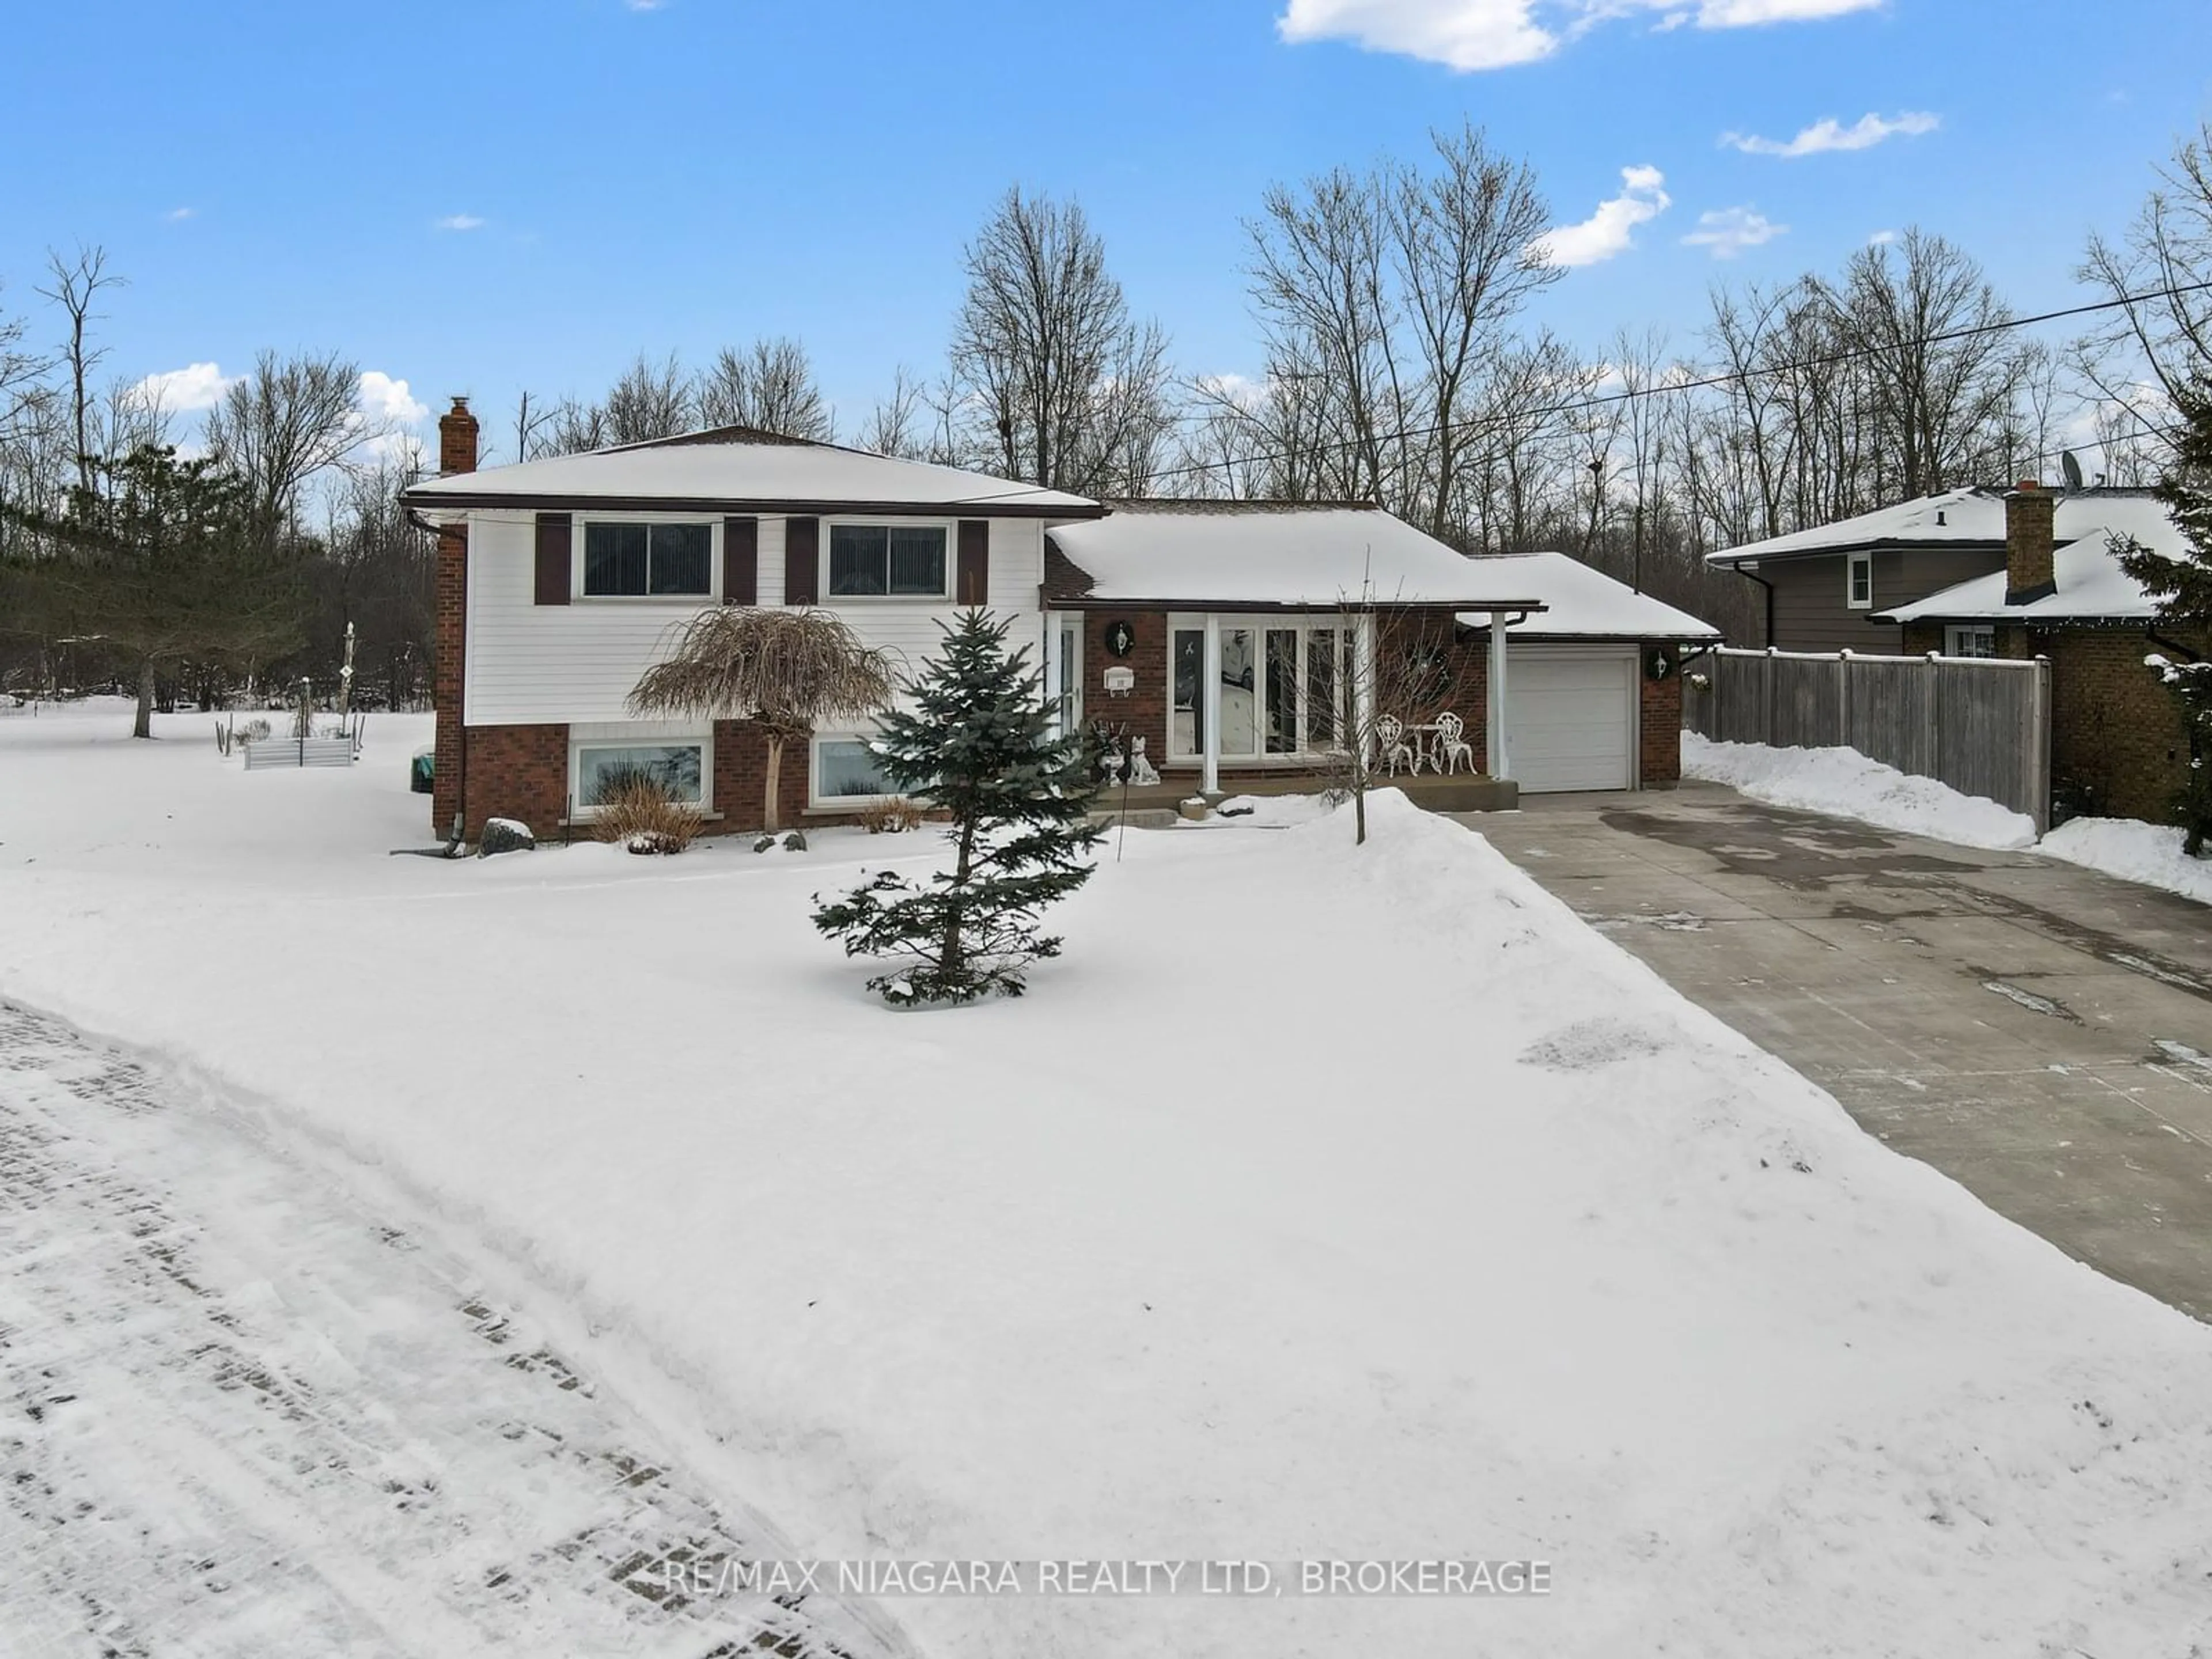
<path id="1" fill-rule="evenodd" d="M 816 896 L 814 927 L 845 956 L 898 967 L 869 980 L 894 1006 L 1022 995 L 1022 971 L 1060 956 L 1040 931 L 1093 865 L 1102 832 L 1079 737 L 1053 737 L 1029 650 L 1006 650 L 1006 624 L 969 611 L 909 688 L 916 710 L 878 721 L 883 774 L 951 814 L 953 867 L 927 883 L 885 872 L 838 900 Z"/>

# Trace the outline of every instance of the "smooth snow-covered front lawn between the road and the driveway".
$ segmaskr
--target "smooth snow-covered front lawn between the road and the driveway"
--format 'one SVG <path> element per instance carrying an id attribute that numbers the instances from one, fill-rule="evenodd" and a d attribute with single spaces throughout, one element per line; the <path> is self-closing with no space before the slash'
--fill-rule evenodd
<path id="1" fill-rule="evenodd" d="M 889 1013 L 807 894 L 931 841 L 389 858 L 422 723 L 250 776 L 204 726 L 0 721 L 0 995 L 420 1206 L 792 1548 L 1553 1575 L 885 1604 L 927 1652 L 2212 1639 L 2212 1332 L 1398 796 L 1130 832 L 1029 998 Z"/>

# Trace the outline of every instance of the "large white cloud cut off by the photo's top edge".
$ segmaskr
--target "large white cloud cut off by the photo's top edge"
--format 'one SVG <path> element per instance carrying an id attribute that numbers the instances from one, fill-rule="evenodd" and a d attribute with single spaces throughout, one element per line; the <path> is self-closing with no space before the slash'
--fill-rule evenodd
<path id="1" fill-rule="evenodd" d="M 1287 0 L 1276 33 L 1349 40 L 1447 69 L 1504 69 L 1548 58 L 1601 22 L 1659 11 L 1657 29 L 1745 29 L 1869 11 L 1882 0 Z"/>

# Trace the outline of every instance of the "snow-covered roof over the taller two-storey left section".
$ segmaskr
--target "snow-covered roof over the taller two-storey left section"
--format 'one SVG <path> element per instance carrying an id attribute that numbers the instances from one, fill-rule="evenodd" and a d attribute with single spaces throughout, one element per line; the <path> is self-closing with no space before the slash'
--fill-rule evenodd
<path id="1" fill-rule="evenodd" d="M 414 484 L 400 500 L 431 518 L 471 507 L 940 509 L 1020 518 L 1088 518 L 1102 511 L 1097 502 L 1060 489 L 743 427 L 447 473 Z"/>

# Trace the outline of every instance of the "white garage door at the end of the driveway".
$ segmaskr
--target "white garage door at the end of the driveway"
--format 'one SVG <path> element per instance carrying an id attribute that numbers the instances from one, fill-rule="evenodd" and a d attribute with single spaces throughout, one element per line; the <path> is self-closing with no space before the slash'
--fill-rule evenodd
<path id="1" fill-rule="evenodd" d="M 1632 790 L 1635 646 L 1509 646 L 1506 757 L 1526 794 Z"/>

